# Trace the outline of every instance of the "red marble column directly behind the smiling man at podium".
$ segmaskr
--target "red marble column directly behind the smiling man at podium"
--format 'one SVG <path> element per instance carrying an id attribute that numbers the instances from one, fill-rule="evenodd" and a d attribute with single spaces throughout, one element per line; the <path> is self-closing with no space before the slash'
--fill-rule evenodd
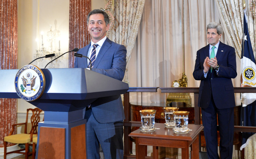
<path id="1" fill-rule="evenodd" d="M 70 0 L 69 1 L 69 50 L 82 48 L 90 40 L 87 31 L 87 15 L 91 11 L 91 0 Z M 69 68 L 74 67 L 74 53 L 69 54 Z"/>

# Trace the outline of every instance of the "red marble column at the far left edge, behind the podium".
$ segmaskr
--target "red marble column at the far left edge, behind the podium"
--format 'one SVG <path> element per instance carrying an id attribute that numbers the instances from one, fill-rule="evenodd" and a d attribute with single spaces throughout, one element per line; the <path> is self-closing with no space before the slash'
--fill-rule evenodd
<path id="1" fill-rule="evenodd" d="M 0 6 L 0 69 L 17 69 L 17 0 L 0 0 Z M 3 147 L 4 136 L 17 123 L 17 99 L 0 98 L 0 113 L 0 147 Z"/>

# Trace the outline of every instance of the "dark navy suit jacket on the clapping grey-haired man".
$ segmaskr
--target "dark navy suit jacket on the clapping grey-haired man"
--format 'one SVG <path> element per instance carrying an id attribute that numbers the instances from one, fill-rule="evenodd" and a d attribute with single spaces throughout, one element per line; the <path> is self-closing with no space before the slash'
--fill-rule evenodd
<path id="1" fill-rule="evenodd" d="M 201 80 L 198 106 L 207 108 L 212 94 L 214 103 L 218 109 L 235 107 L 234 87 L 231 81 L 231 78 L 237 76 L 235 49 L 220 42 L 216 54 L 219 65 L 218 75 L 213 69 L 212 72 L 209 70 L 207 77 L 204 78 L 203 62 L 207 56 L 209 57 L 209 47 L 210 45 L 208 44 L 196 53 L 193 77 L 196 80 Z"/>

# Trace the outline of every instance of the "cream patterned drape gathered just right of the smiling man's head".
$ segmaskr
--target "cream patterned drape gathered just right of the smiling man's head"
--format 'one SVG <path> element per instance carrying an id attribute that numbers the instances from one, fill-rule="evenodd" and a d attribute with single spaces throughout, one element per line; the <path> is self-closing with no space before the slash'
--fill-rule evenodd
<path id="1" fill-rule="evenodd" d="M 106 0 L 106 12 L 113 10 L 114 12 L 112 14 L 115 15 L 115 17 L 112 21 L 112 29 L 108 33 L 112 38 L 109 38 L 126 47 L 126 62 L 128 66 L 128 62 L 131 58 L 131 52 L 138 34 L 145 0 L 114 0 L 114 6 L 108 6 L 110 1 L 112 0 Z M 110 7 L 113 7 L 113 9 Z M 110 17 L 111 16 L 112 15 L 110 15 Z M 127 77 L 127 66 L 124 81 L 129 83 Z"/>

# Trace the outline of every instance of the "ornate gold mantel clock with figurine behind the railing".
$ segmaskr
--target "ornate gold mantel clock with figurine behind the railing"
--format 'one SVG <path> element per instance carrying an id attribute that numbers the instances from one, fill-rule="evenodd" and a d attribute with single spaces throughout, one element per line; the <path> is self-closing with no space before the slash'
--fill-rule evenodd
<path id="1" fill-rule="evenodd" d="M 173 87 L 188 87 L 188 77 L 185 72 L 182 73 L 181 79 L 173 82 Z M 166 99 L 166 106 L 170 106 L 172 102 L 184 102 L 185 107 L 192 106 L 190 93 L 169 93 Z"/>

